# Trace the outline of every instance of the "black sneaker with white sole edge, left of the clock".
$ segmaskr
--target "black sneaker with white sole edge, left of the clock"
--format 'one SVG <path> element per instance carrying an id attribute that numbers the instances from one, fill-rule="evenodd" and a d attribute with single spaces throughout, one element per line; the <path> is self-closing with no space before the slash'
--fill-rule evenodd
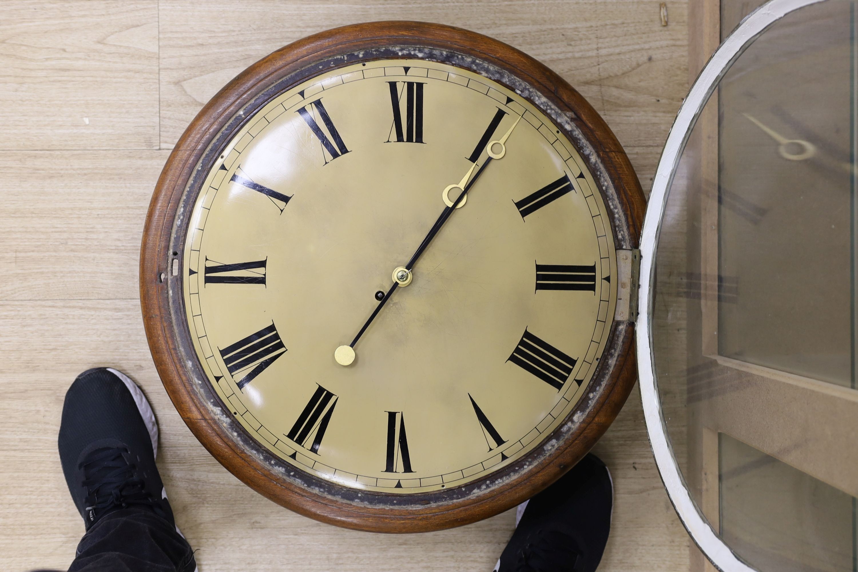
<path id="1" fill-rule="evenodd" d="M 87 530 L 120 509 L 151 510 L 172 526 L 155 455 L 158 424 L 143 392 L 110 368 L 84 371 L 65 394 L 59 428 L 65 481 Z"/>

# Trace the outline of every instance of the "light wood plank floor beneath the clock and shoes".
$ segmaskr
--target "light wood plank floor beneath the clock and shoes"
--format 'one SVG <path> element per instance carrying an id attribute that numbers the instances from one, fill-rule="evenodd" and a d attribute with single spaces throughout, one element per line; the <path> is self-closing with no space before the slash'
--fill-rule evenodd
<path id="1" fill-rule="evenodd" d="M 488 571 L 506 513 L 405 537 L 281 509 L 210 457 L 173 409 L 143 335 L 137 258 L 169 149 L 239 70 L 294 39 L 357 21 L 439 21 L 541 59 L 619 137 L 649 189 L 686 93 L 686 3 L 650 0 L 275 2 L 3 0 L 0 4 L 0 569 L 65 568 L 83 525 L 56 451 L 63 395 L 94 365 L 139 383 L 159 465 L 202 572 Z M 596 447 L 613 472 L 600 570 L 686 570 L 689 540 L 662 488 L 637 390 Z"/>

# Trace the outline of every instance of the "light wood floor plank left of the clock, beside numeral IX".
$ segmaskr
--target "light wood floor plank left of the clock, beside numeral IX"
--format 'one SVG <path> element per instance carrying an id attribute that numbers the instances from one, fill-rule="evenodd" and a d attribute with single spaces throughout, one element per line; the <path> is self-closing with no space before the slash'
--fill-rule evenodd
<path id="1" fill-rule="evenodd" d="M 143 220 L 168 154 L 0 154 L 0 300 L 138 298 Z"/>

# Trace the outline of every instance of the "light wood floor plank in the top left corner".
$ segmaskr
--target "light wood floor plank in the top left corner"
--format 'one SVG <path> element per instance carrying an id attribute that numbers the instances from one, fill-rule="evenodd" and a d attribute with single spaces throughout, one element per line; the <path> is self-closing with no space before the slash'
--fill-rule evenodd
<path id="1" fill-rule="evenodd" d="M 157 7 L 5 0 L 0 148 L 158 148 Z"/>

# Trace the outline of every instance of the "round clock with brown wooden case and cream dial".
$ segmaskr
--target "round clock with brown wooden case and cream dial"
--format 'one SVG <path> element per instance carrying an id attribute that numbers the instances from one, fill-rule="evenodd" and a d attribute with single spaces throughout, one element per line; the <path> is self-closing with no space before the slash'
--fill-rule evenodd
<path id="1" fill-rule="evenodd" d="M 300 156 L 283 159 L 293 144 Z M 457 183 L 471 200 L 396 286 Z M 558 479 L 625 403 L 633 324 L 615 316 L 617 252 L 637 248 L 643 212 L 613 133 L 532 57 L 436 24 L 329 30 L 246 69 L 173 149 L 142 241 L 149 346 L 194 435 L 276 503 L 375 532 L 468 524 Z M 373 244 L 396 256 L 379 265 Z M 498 249 L 510 268 L 492 274 Z M 392 301 L 337 364 L 376 290 Z M 551 331 L 564 333 L 540 337 Z"/>

